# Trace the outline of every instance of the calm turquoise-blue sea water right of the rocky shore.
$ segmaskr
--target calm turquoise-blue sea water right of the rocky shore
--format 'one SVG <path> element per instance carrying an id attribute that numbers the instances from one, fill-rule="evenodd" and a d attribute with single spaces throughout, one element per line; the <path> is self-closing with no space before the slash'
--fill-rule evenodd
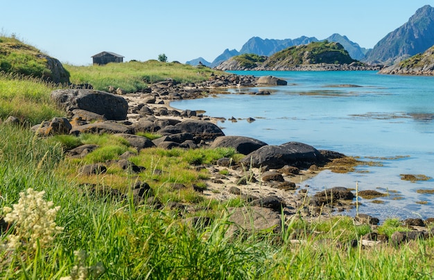
<path id="1" fill-rule="evenodd" d="M 233 71 L 238 75 L 276 76 L 287 86 L 230 89 L 196 100 L 171 103 L 178 109 L 232 116 L 218 123 L 226 135 L 243 135 L 279 145 L 299 141 L 317 149 L 376 161 L 354 173 L 323 171 L 308 184 L 311 193 L 346 186 L 374 189 L 389 196 L 383 203 L 361 200 L 361 213 L 384 218 L 434 217 L 434 180 L 407 182 L 401 174 L 434 177 L 434 77 L 385 76 L 374 71 Z M 250 91 L 267 89 L 269 96 Z M 248 123 L 252 117 L 256 121 Z M 350 215 L 354 213 L 348 213 Z"/>

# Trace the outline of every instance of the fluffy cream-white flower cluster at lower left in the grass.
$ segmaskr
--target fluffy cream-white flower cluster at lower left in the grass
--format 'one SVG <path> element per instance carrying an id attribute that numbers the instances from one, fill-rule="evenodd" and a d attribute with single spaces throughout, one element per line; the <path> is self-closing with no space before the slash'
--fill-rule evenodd
<path id="1" fill-rule="evenodd" d="M 42 247 L 63 230 L 54 222 L 60 206 L 53 207 L 52 201 L 46 202 L 44 193 L 27 189 L 26 193 L 19 193 L 18 203 L 12 208 L 3 207 L 6 213 L 4 220 L 15 225 L 15 230 L 7 236 L 9 249 L 17 249 L 21 245 L 36 249 L 38 242 Z"/>

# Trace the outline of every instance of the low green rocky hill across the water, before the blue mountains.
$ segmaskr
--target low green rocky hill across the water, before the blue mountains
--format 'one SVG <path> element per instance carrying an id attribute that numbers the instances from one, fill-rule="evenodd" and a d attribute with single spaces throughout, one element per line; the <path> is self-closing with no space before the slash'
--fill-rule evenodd
<path id="1" fill-rule="evenodd" d="M 334 42 L 311 42 L 300 46 L 290 46 L 269 58 L 259 55 L 238 55 L 220 64 L 219 70 L 303 70 L 318 69 L 318 66 L 357 63 L 343 46 Z M 332 67 L 336 70 L 336 67 Z"/>

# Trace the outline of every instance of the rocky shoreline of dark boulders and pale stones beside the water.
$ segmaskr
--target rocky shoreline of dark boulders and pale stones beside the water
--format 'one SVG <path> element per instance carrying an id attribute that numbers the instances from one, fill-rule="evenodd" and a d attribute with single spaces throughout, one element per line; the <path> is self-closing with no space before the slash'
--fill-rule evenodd
<path id="1" fill-rule="evenodd" d="M 345 155 L 316 150 L 305 143 L 288 142 L 269 146 L 249 137 L 226 136 L 216 125 L 217 118 L 192 110 L 176 110 L 170 106 L 172 100 L 200 98 L 218 93 L 223 88 L 280 85 L 283 82 L 275 77 L 259 80 L 254 76 L 228 75 L 212 76 L 210 80 L 198 84 L 176 84 L 167 80 L 150 85 L 143 92 L 132 94 L 124 94 L 121 89 L 112 89 L 113 93 L 92 89 L 59 89 L 52 92 L 51 98 L 67 111 L 68 117 L 54 118 L 35 125 L 33 130 L 42 137 L 53 134 L 117 134 L 137 150 L 150 147 L 235 148 L 238 153 L 245 155 L 239 164 L 222 158 L 215 165 L 195 167 L 206 168 L 211 175 L 206 182 L 207 188 L 200 192 L 207 198 L 220 201 L 240 198 L 250 206 L 258 207 L 236 211 L 254 211 L 254 215 L 267 213 L 275 216 L 270 220 L 276 224 L 267 222 L 266 227 L 278 226 L 282 209 L 288 218 L 301 216 L 307 220 L 329 216 L 333 211 L 352 209 L 355 207 L 354 193 L 349 189 L 334 187 L 311 194 L 309 186 L 303 185 L 304 180 L 315 176 L 324 168 L 330 168 L 327 164 L 338 165 L 336 159 L 345 159 Z M 150 141 L 138 136 L 137 132 L 156 132 L 162 137 Z M 67 151 L 67 155 L 84 157 L 95 148 L 97 147 L 80 146 Z M 133 166 L 128 161 L 129 156 L 131 155 L 121 156 L 122 164 L 140 172 L 139 166 Z M 84 166 L 80 174 L 102 172 L 107 170 L 108 164 L 119 164 L 119 161 Z M 222 175 L 222 170 L 225 170 L 225 175 Z M 149 195 L 150 189 L 146 185 L 138 184 L 137 190 L 134 189 L 135 201 L 139 202 Z M 148 202 L 154 203 L 155 199 Z M 194 211 L 191 205 L 182 205 L 182 208 Z M 257 218 L 261 220 L 259 216 Z M 356 217 L 356 222 L 368 223 L 374 227 L 379 220 L 360 214 Z"/>

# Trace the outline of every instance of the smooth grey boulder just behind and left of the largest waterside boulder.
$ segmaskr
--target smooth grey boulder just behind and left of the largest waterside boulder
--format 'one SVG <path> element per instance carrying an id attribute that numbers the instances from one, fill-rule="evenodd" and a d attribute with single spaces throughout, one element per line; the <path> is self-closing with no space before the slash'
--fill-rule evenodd
<path id="1" fill-rule="evenodd" d="M 214 139 L 210 148 L 234 148 L 236 152 L 248 155 L 259 148 L 266 146 L 267 143 L 250 137 L 243 136 L 220 136 Z"/>

